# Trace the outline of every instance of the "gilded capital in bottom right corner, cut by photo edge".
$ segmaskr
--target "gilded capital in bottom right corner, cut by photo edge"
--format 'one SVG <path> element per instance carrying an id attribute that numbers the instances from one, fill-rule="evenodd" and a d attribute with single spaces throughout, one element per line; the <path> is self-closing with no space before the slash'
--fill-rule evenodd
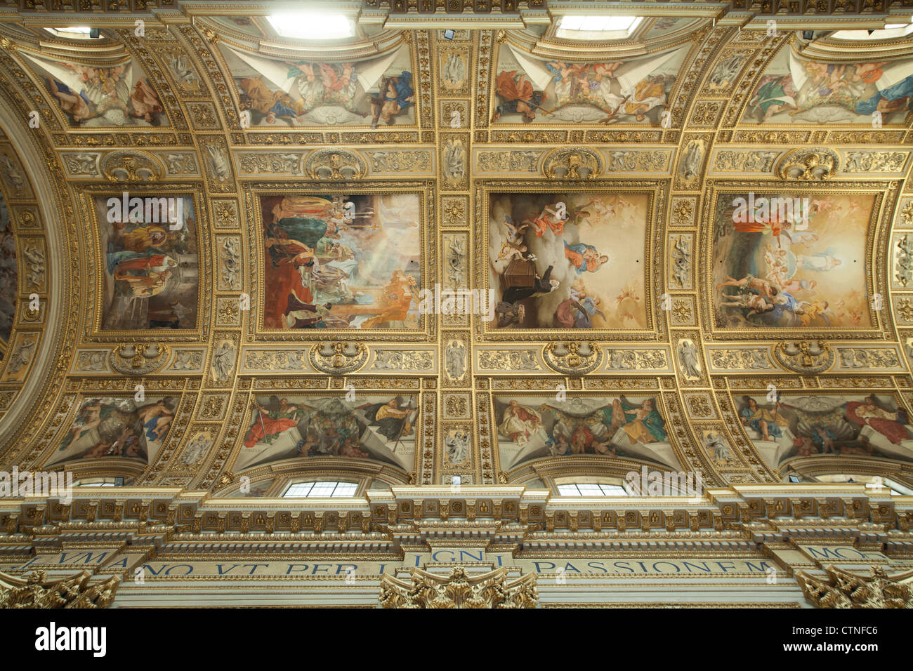
<path id="1" fill-rule="evenodd" d="M 872 566 L 871 575 L 856 575 L 825 566 L 827 579 L 796 571 L 803 594 L 818 608 L 913 608 L 913 571 L 887 575 Z"/>

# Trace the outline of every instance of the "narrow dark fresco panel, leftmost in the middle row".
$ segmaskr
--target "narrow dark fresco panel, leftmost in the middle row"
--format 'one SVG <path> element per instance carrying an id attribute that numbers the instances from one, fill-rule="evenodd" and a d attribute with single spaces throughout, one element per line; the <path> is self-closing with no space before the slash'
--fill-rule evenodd
<path id="1" fill-rule="evenodd" d="M 120 209 L 114 212 L 109 204 L 121 200 L 120 196 L 95 196 L 105 262 L 102 329 L 196 328 L 199 258 L 194 199 L 175 196 L 172 204 L 178 199 L 180 206 L 170 211 L 181 216 L 181 225 L 172 230 L 158 209 L 130 204 L 121 215 Z"/>

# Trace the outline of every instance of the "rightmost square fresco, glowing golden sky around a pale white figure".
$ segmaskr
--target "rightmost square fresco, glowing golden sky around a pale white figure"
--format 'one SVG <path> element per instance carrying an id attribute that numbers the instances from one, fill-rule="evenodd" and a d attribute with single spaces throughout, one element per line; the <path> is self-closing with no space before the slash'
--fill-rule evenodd
<path id="1" fill-rule="evenodd" d="M 717 327 L 871 326 L 866 241 L 875 205 L 874 194 L 719 194 Z"/>

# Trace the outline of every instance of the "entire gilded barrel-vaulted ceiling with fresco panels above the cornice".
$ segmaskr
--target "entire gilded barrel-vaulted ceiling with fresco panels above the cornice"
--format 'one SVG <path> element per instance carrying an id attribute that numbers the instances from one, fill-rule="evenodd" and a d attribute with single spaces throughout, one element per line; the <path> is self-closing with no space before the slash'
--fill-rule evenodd
<path id="1" fill-rule="evenodd" d="M 913 483 L 913 38 L 5 5 L 0 466 Z"/>

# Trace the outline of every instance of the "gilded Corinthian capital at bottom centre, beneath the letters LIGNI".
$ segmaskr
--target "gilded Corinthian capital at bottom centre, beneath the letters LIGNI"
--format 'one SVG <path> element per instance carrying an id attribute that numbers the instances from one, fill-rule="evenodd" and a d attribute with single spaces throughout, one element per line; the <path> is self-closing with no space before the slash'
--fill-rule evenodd
<path id="1" fill-rule="evenodd" d="M 411 582 L 381 576 L 383 608 L 535 608 L 539 601 L 536 574 L 508 580 L 501 567 L 470 577 L 457 566 L 450 575 L 409 569 Z"/>

